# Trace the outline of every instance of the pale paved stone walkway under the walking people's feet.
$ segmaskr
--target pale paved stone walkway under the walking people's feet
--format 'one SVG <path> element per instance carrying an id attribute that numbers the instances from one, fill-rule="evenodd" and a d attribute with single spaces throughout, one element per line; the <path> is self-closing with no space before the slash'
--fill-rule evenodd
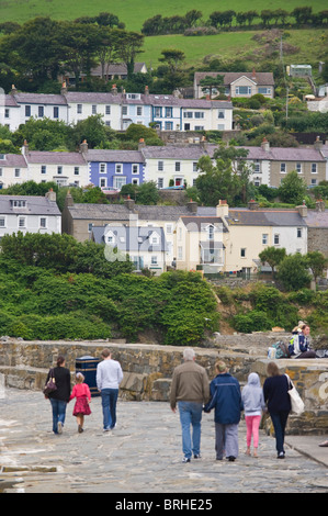
<path id="1" fill-rule="evenodd" d="M 117 427 L 102 431 L 100 397 L 93 397 L 84 433 L 77 433 L 67 407 L 64 433 L 52 433 L 50 404 L 42 393 L 5 389 L 0 399 L 0 492 L 5 493 L 326 493 L 328 448 L 321 437 L 295 438 L 307 455 L 260 433 L 259 458 L 245 455 L 246 426 L 239 425 L 239 458 L 216 461 L 213 414 L 203 416 L 202 459 L 182 464 L 179 415 L 167 403 L 117 403 Z M 290 436 L 289 442 L 293 444 Z M 305 446 L 306 448 L 306 446 Z M 319 452 L 314 460 L 310 448 Z M 309 450 L 309 451 L 308 451 Z M 320 460 L 319 458 L 319 460 Z M 325 465 L 326 463 L 326 465 Z"/>

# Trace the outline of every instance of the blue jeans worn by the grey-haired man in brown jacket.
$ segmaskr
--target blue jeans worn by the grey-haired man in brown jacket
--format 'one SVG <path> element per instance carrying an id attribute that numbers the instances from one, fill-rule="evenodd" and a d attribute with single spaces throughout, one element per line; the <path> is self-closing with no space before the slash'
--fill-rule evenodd
<path id="1" fill-rule="evenodd" d="M 191 459 L 192 452 L 201 452 L 201 420 L 203 404 L 195 402 L 178 402 L 180 422 L 182 427 L 182 451 L 186 459 Z M 191 427 L 192 426 L 192 436 Z"/>

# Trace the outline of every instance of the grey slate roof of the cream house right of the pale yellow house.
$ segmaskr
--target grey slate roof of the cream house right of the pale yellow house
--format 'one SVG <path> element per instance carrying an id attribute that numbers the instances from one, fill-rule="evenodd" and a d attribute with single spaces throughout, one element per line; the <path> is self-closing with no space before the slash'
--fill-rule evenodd
<path id="1" fill-rule="evenodd" d="M 306 226 L 297 210 L 229 209 L 227 222 L 231 226 Z"/>

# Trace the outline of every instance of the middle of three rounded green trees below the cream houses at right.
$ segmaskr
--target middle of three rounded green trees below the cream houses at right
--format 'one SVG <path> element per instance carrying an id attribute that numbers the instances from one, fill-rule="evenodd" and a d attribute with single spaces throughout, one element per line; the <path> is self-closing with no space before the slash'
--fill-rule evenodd
<path id="1" fill-rule="evenodd" d="M 301 290 L 310 282 L 306 256 L 299 253 L 286 256 L 279 265 L 278 279 L 287 291 Z"/>

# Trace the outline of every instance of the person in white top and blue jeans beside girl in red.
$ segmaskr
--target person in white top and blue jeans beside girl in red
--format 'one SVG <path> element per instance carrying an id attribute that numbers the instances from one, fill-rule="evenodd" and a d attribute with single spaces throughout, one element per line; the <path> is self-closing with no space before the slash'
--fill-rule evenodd
<path id="1" fill-rule="evenodd" d="M 116 426 L 116 403 L 123 371 L 120 362 L 112 359 L 112 354 L 108 348 L 102 351 L 101 356 L 103 361 L 97 366 L 95 380 L 101 394 L 103 429 L 109 431 Z"/>

